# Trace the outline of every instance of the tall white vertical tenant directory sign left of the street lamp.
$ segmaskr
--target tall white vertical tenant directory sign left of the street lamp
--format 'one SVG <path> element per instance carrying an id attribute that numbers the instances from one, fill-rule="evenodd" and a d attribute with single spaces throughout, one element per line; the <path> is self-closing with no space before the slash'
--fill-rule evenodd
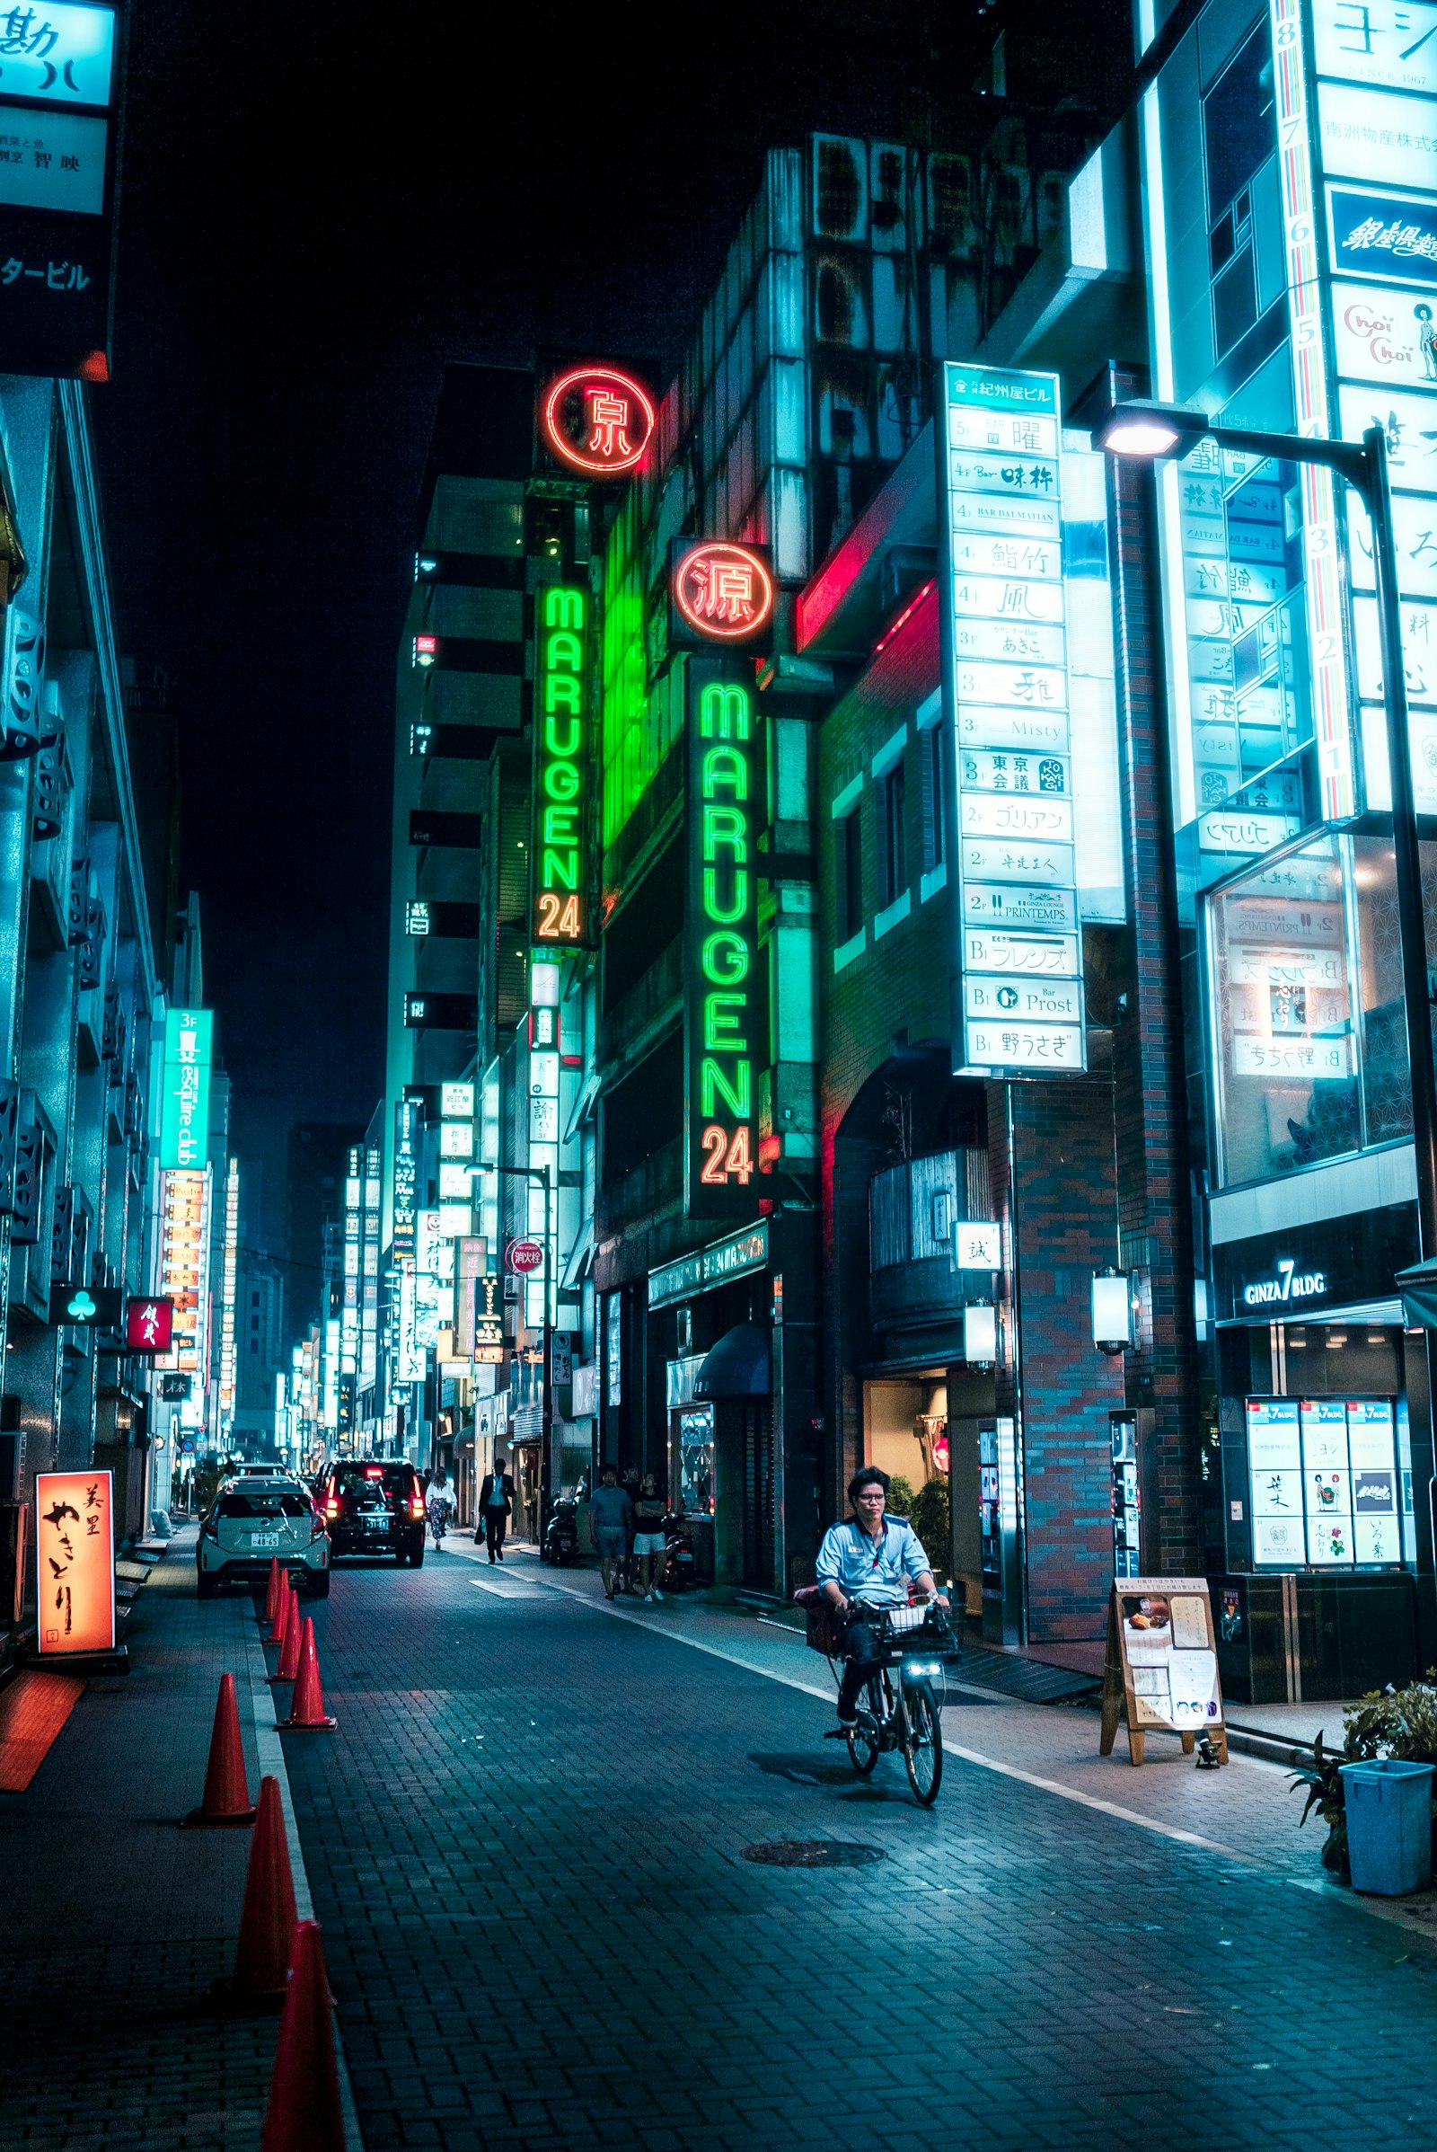
<path id="1" fill-rule="evenodd" d="M 1056 374 L 944 366 L 964 1070 L 1086 1067 Z"/>

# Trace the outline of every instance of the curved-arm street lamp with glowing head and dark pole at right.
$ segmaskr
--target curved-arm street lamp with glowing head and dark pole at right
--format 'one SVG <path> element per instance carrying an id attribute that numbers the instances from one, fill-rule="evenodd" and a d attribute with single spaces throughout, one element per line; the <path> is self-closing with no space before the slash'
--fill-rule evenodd
<path id="1" fill-rule="evenodd" d="M 1127 400 L 1112 407 L 1093 430 L 1093 448 L 1108 456 L 1144 463 L 1185 456 L 1198 441 L 1265 456 L 1276 463 L 1314 463 L 1336 471 L 1362 497 L 1372 519 L 1372 562 L 1377 566 L 1377 628 L 1381 637 L 1383 699 L 1388 708 L 1388 762 L 1392 768 L 1392 850 L 1396 856 L 1396 915 L 1403 943 L 1403 1003 L 1407 1009 L 1407 1059 L 1411 1061 L 1411 1134 L 1418 1164 L 1418 1242 L 1422 1259 L 1437 1257 L 1437 1076 L 1431 1046 L 1431 983 L 1422 921 L 1422 854 L 1418 809 L 1411 790 L 1411 742 L 1407 734 L 1407 671 L 1403 665 L 1403 615 L 1396 587 L 1396 540 L 1388 486 L 1388 437 L 1368 426 L 1362 445 L 1321 441 L 1293 433 L 1250 433 L 1246 426 L 1213 426 L 1207 411 L 1190 405 Z M 1431 1358 L 1431 1332 L 1428 1332 Z M 1437 1390 L 1433 1392 L 1437 1394 Z"/>

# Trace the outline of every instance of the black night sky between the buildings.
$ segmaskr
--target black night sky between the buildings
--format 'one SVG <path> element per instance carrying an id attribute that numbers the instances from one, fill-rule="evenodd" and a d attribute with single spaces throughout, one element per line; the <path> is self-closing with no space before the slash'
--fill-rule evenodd
<path id="1" fill-rule="evenodd" d="M 906 86 L 972 80 L 974 22 L 133 0 L 93 392 L 118 635 L 179 682 L 181 887 L 271 1222 L 288 1125 L 366 1121 L 383 1087 L 394 663 L 443 362 L 671 366 L 764 148 L 897 133 Z"/>

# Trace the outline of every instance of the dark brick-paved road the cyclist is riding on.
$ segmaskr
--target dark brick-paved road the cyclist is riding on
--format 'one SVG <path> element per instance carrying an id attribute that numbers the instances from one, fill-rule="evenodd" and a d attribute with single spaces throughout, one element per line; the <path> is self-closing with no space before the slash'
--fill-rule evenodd
<path id="1" fill-rule="evenodd" d="M 925 1814 L 815 1698 L 488 1580 L 342 1569 L 286 1741 L 370 2152 L 1433 2141 L 1422 1939 L 992 1771 Z"/>

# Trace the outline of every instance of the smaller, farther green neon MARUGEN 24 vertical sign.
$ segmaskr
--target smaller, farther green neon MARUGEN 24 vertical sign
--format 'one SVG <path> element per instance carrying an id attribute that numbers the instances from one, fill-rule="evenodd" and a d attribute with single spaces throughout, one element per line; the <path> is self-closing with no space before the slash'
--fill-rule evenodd
<path id="1" fill-rule="evenodd" d="M 549 947 L 589 945 L 589 592 L 546 583 L 536 596 L 533 919 Z"/>

